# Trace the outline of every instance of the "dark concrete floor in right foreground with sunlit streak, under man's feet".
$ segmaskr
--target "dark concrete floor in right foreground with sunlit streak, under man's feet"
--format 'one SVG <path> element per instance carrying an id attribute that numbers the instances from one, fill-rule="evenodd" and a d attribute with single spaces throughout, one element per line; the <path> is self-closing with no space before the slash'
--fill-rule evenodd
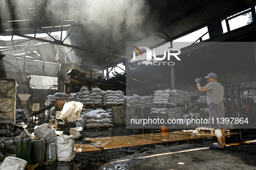
<path id="1" fill-rule="evenodd" d="M 229 144 L 224 150 L 205 144 L 145 151 L 90 170 L 256 170 L 256 140 Z"/>

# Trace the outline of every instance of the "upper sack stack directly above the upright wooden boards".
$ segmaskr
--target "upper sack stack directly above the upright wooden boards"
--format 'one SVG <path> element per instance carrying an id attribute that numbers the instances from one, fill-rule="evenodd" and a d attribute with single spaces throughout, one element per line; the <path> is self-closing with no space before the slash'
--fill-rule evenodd
<path id="1" fill-rule="evenodd" d="M 120 90 L 113 91 L 107 90 L 102 91 L 102 103 L 104 106 L 106 105 L 122 105 L 125 102 L 124 93 Z"/>

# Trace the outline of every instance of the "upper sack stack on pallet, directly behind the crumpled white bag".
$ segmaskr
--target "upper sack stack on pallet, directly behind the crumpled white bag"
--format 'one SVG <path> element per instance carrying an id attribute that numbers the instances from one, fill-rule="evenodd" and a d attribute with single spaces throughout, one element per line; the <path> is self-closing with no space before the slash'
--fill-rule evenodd
<path id="1" fill-rule="evenodd" d="M 76 94 L 75 101 L 85 104 L 101 104 L 102 103 L 102 92 L 99 88 L 95 87 L 89 90 L 87 87 L 82 87 Z"/>

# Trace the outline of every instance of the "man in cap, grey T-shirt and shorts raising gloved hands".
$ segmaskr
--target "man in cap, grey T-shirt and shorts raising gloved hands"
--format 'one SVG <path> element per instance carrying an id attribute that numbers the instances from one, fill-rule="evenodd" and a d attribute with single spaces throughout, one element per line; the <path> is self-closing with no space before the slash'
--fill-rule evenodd
<path id="1" fill-rule="evenodd" d="M 210 148 L 221 149 L 226 147 L 225 143 L 225 125 L 220 123 L 221 118 L 224 119 L 225 109 L 223 103 L 224 88 L 217 82 L 217 74 L 210 73 L 207 78 L 207 85 L 201 87 L 200 78 L 195 81 L 200 92 L 207 90 L 207 105 L 209 106 L 210 127 L 214 128 L 218 143 L 210 146 Z"/>

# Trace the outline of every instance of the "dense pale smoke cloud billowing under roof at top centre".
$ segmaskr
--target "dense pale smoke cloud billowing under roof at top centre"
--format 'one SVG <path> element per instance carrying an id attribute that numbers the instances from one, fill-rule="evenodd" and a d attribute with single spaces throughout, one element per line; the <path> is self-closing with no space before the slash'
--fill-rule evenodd
<path id="1" fill-rule="evenodd" d="M 149 15 L 146 0 L 60 0 L 51 1 L 49 9 L 55 6 L 58 19 L 74 19 L 93 38 L 117 42 L 126 35 L 138 33 Z M 141 35 L 133 35 L 143 37 Z"/>

